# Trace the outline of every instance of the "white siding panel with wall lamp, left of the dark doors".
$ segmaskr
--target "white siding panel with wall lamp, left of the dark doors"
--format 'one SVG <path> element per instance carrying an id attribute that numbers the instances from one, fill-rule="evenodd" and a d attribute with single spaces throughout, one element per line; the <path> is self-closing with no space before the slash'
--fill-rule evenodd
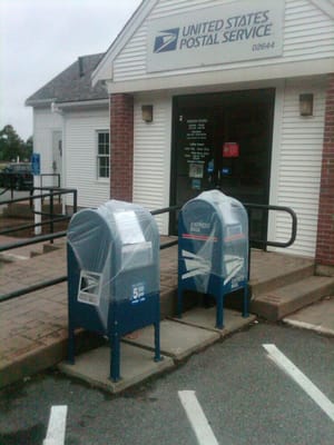
<path id="1" fill-rule="evenodd" d="M 154 106 L 154 121 L 141 119 L 141 105 Z M 149 210 L 169 206 L 171 98 L 137 97 L 135 100 L 134 202 Z M 161 234 L 168 216 L 157 217 Z"/>

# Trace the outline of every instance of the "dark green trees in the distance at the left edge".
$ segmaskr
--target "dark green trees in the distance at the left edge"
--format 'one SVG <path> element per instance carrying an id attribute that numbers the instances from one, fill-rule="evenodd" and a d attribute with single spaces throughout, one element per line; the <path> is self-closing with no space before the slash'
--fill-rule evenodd
<path id="1" fill-rule="evenodd" d="M 30 140 L 31 139 L 31 140 Z M 24 142 L 11 125 L 0 131 L 0 160 L 12 161 L 30 159 L 32 152 L 32 138 Z"/>

